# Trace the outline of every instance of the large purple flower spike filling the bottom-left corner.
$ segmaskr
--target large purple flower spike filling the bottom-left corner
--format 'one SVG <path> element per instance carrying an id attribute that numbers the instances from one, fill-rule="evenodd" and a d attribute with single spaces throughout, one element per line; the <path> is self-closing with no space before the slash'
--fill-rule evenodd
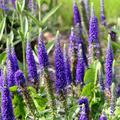
<path id="1" fill-rule="evenodd" d="M 7 85 L 5 84 L 6 83 L 4 83 L 4 86 L 2 87 L 2 106 L 1 106 L 2 120 L 15 120 L 10 91 Z"/>

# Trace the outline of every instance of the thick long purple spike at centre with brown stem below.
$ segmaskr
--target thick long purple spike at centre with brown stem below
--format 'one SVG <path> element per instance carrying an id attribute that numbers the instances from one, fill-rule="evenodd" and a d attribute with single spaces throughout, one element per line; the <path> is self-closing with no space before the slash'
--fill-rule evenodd
<path id="1" fill-rule="evenodd" d="M 65 76 L 65 63 L 62 48 L 60 46 L 59 32 L 56 35 L 55 44 L 55 70 L 56 70 L 56 91 L 65 108 L 66 119 L 67 116 L 67 98 L 66 98 L 66 76 Z"/>

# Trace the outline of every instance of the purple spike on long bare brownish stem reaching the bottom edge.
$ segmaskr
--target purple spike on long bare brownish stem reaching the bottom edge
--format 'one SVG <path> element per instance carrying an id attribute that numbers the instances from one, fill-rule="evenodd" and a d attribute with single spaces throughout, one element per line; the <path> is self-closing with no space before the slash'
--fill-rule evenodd
<path id="1" fill-rule="evenodd" d="M 47 55 L 47 51 L 45 48 L 45 44 L 43 41 L 43 33 L 40 33 L 38 38 L 38 58 L 40 69 L 43 69 L 44 79 L 46 81 L 46 89 L 48 92 L 48 98 L 50 100 L 50 107 L 52 108 L 53 120 L 56 119 L 56 106 L 55 106 L 55 96 L 53 90 L 53 81 L 51 80 L 51 76 L 49 73 L 49 59 Z"/>

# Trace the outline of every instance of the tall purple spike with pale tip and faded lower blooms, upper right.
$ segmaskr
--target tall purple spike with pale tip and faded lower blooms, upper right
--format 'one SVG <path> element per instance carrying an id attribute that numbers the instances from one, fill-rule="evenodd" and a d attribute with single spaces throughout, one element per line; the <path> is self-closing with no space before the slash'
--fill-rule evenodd
<path id="1" fill-rule="evenodd" d="M 98 39 L 98 19 L 95 16 L 94 8 L 91 8 L 91 17 L 89 23 L 89 64 L 92 63 L 94 58 L 100 59 L 100 43 Z"/>

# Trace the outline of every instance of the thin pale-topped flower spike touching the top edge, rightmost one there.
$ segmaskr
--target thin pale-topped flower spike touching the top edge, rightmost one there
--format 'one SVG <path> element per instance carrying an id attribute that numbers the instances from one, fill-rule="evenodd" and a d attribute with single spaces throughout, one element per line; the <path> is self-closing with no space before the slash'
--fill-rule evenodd
<path id="1" fill-rule="evenodd" d="M 106 26 L 106 17 L 105 17 L 105 10 L 104 10 L 104 0 L 100 0 L 101 4 L 101 22 L 102 25 Z"/>

